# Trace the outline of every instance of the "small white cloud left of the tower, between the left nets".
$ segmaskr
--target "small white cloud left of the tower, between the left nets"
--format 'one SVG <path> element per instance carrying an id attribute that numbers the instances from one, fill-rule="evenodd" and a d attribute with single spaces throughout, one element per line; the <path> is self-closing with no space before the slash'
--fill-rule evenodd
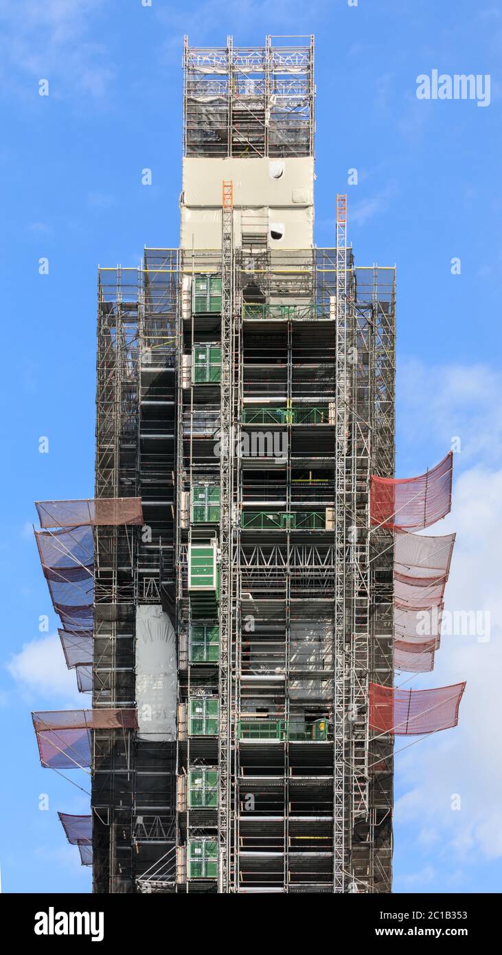
<path id="1" fill-rule="evenodd" d="M 7 664 L 10 676 L 18 689 L 29 697 L 40 696 L 52 700 L 64 697 L 73 706 L 82 706 L 82 697 L 77 693 L 73 670 L 66 666 L 57 634 L 32 640 L 25 644 Z"/>

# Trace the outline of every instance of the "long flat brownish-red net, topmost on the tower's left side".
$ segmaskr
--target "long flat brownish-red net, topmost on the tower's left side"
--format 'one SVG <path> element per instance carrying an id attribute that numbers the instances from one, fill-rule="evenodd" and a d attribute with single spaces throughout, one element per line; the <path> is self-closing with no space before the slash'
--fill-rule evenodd
<path id="1" fill-rule="evenodd" d="M 143 523 L 140 498 L 36 500 L 35 507 L 41 527 Z"/>

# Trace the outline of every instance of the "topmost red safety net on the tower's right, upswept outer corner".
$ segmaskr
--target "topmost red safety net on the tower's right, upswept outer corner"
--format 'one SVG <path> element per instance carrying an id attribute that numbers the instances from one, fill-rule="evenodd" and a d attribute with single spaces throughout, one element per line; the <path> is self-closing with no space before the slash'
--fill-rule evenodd
<path id="1" fill-rule="evenodd" d="M 420 530 L 444 518 L 451 506 L 453 454 L 419 477 L 371 477 L 371 523 Z"/>

